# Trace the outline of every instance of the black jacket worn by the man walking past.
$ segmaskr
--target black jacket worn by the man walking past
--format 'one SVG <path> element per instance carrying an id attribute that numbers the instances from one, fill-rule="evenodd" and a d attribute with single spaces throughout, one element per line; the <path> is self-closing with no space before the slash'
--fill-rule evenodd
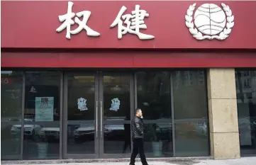
<path id="1" fill-rule="evenodd" d="M 132 122 L 133 138 L 143 138 L 144 135 L 143 120 L 138 116 L 135 116 Z"/>

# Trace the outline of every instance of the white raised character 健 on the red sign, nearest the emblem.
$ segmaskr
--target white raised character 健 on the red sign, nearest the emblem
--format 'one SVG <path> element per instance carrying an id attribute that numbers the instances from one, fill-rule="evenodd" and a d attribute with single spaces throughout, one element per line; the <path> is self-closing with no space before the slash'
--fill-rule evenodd
<path id="1" fill-rule="evenodd" d="M 116 16 L 116 19 L 110 25 L 110 28 L 118 25 L 118 39 L 121 39 L 126 33 L 138 35 L 140 40 L 150 40 L 155 38 L 153 35 L 140 33 L 140 29 L 147 28 L 147 25 L 144 23 L 144 18 L 150 16 L 149 13 L 147 13 L 145 10 L 140 10 L 140 5 L 136 5 L 135 11 L 132 11 L 131 14 L 123 15 L 126 9 L 126 6 L 122 6 L 121 10 Z M 126 23 L 126 26 L 123 25 L 122 19 L 124 20 L 124 23 Z"/>

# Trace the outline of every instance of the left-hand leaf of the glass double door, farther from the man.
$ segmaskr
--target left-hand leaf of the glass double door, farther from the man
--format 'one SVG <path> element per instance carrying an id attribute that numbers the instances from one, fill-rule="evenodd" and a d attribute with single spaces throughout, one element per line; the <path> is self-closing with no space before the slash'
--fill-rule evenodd
<path id="1" fill-rule="evenodd" d="M 99 76 L 68 73 L 64 87 L 63 156 L 99 158 Z"/>

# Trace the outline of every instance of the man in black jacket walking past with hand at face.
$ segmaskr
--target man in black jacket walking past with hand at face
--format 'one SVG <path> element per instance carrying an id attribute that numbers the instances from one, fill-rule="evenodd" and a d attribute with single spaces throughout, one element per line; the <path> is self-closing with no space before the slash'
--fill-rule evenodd
<path id="1" fill-rule="evenodd" d="M 130 156 L 130 165 L 135 165 L 135 158 L 140 153 L 140 161 L 143 165 L 148 165 L 144 154 L 144 141 L 143 141 L 143 113 L 140 108 L 135 109 L 135 117 L 132 122 L 133 132 L 133 152 Z"/>

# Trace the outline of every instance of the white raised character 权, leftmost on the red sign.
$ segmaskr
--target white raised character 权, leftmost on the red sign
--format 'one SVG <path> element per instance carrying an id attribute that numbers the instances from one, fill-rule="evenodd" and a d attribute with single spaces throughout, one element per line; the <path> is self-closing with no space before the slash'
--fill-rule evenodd
<path id="1" fill-rule="evenodd" d="M 69 1 L 67 5 L 67 13 L 65 13 L 62 16 L 59 16 L 60 22 L 64 22 L 64 23 L 62 23 L 62 25 L 60 25 L 60 27 L 57 28 L 56 31 L 61 32 L 66 28 L 67 39 L 70 39 L 70 34 L 74 35 L 74 34 L 80 33 L 83 29 L 87 31 L 88 36 L 91 36 L 91 37 L 99 36 L 100 34 L 98 32 L 92 30 L 87 25 L 87 21 L 91 15 L 91 11 L 81 11 L 79 13 L 72 13 L 73 4 L 74 4 L 73 2 Z M 74 16 L 76 17 L 74 18 Z M 83 16 L 83 20 L 80 21 L 79 18 L 81 18 L 82 16 Z M 74 18 L 74 21 L 72 20 L 72 18 Z M 74 25 L 74 22 L 77 23 L 79 26 L 76 29 L 71 30 L 71 25 Z"/>

